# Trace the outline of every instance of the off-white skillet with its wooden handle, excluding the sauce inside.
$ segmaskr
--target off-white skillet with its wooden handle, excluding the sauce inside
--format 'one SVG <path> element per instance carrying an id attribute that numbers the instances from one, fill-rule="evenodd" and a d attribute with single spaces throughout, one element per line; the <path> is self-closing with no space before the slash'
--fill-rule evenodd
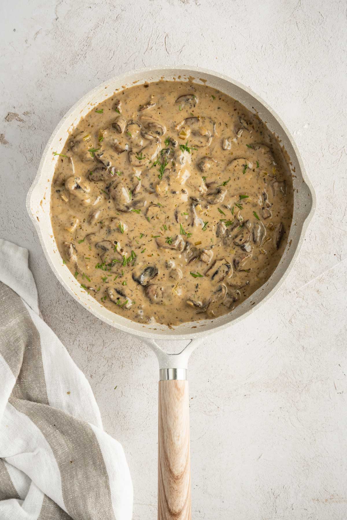
<path id="1" fill-rule="evenodd" d="M 122 89 L 160 79 L 187 80 L 193 76 L 195 81 L 205 80 L 206 84 L 221 90 L 237 99 L 251 112 L 259 114 L 270 131 L 280 139 L 289 154 L 294 177 L 294 212 L 288 243 L 275 272 L 267 282 L 251 297 L 239 305 L 232 313 L 213 320 L 183 323 L 175 329 L 164 325 L 143 325 L 125 317 L 113 314 L 102 307 L 94 298 L 88 296 L 75 280 L 69 269 L 62 264 L 57 249 L 52 224 L 50 222 L 50 185 L 52 183 L 57 158 L 53 152 L 60 153 L 69 132 L 78 124 L 93 106 L 109 96 L 116 88 Z M 159 361 L 159 438 L 158 438 L 158 518 L 188 520 L 191 518 L 190 506 L 190 453 L 189 453 L 189 406 L 187 365 L 189 356 L 196 346 L 216 330 L 226 329 L 233 322 L 246 317 L 262 305 L 288 276 L 298 257 L 304 233 L 313 216 L 316 205 L 314 189 L 307 178 L 302 160 L 288 129 L 277 114 L 256 96 L 249 88 L 240 83 L 205 69 L 170 68 L 138 69 L 114 77 L 102 83 L 83 96 L 62 118 L 50 137 L 43 152 L 37 175 L 27 197 L 27 210 L 32 218 L 43 251 L 52 270 L 63 287 L 97 318 L 117 327 L 124 332 L 138 336 L 152 348 Z M 254 303 L 255 302 L 255 303 Z M 156 340 L 189 340 L 180 354 L 166 354 Z"/>

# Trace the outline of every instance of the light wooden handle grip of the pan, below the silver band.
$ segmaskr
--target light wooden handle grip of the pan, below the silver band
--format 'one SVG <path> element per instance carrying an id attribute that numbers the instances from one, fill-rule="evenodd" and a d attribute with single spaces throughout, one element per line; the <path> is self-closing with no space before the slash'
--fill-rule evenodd
<path id="1" fill-rule="evenodd" d="M 159 381 L 158 520 L 191 520 L 188 381 Z"/>

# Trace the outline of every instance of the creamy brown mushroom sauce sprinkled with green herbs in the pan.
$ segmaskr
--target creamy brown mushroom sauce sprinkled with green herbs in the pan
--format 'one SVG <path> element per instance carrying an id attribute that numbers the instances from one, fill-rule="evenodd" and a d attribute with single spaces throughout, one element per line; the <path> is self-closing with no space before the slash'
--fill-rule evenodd
<path id="1" fill-rule="evenodd" d="M 50 207 L 82 291 L 171 327 L 230 313 L 272 275 L 293 188 L 258 116 L 214 88 L 160 81 L 115 92 L 81 119 Z"/>

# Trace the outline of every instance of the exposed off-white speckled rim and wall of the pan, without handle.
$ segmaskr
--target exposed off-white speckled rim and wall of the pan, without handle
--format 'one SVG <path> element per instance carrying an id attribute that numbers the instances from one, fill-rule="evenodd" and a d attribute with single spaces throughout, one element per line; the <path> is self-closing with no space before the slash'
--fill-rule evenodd
<path id="1" fill-rule="evenodd" d="M 54 168 L 57 158 L 53 152 L 60 152 L 69 132 L 78 124 L 80 118 L 86 115 L 94 105 L 111 96 L 117 88 L 130 87 L 134 83 L 158 81 L 160 79 L 173 80 L 181 76 L 181 81 L 187 80 L 189 76 L 195 77 L 196 82 L 201 79 L 206 84 L 221 90 L 225 94 L 232 96 L 245 105 L 251 112 L 259 114 L 260 118 L 266 122 L 267 127 L 278 136 L 281 144 L 289 154 L 294 171 L 294 211 L 292 225 L 288 236 L 288 244 L 284 255 L 281 258 L 275 272 L 267 282 L 248 300 L 239 305 L 232 313 L 199 322 L 184 323 L 175 329 L 169 329 L 164 325 L 145 325 L 135 323 L 127 318 L 118 316 L 102 307 L 94 298 L 88 296 L 80 288 L 77 282 L 65 265 L 57 249 L 52 224 L 50 222 L 50 183 L 53 179 Z M 102 83 L 91 92 L 80 99 L 62 118 L 50 137 L 38 167 L 37 175 L 29 190 L 27 197 L 27 209 L 33 220 L 35 228 L 40 238 L 43 251 L 47 261 L 52 267 L 58 280 L 63 284 L 67 291 L 86 306 L 96 317 L 117 327 L 125 332 L 136 334 L 147 338 L 158 339 L 190 339 L 192 337 L 202 337 L 212 333 L 216 329 L 228 327 L 232 322 L 247 316 L 253 309 L 264 303 L 267 298 L 275 293 L 285 280 L 290 269 L 294 265 L 303 241 L 304 233 L 310 223 L 315 210 L 316 197 L 313 187 L 307 179 L 297 147 L 289 135 L 285 125 L 281 122 L 273 110 L 266 103 L 251 92 L 245 86 L 235 82 L 228 77 L 204 69 L 187 68 L 165 68 L 158 69 L 139 69 L 121 76 L 115 77 L 106 83 Z"/>

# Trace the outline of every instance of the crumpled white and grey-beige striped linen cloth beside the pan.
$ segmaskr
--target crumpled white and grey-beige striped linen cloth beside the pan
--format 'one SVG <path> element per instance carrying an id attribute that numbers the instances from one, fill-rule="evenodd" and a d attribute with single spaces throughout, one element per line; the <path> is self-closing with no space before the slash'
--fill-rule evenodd
<path id="1" fill-rule="evenodd" d="M 28 250 L 0 239 L 0 520 L 130 520 L 122 446 L 41 319 Z"/>

